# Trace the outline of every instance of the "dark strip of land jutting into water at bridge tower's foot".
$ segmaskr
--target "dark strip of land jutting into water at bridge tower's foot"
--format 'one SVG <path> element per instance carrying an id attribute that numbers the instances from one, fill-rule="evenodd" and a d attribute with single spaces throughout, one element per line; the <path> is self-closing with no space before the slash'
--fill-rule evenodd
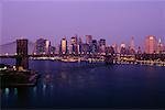
<path id="1" fill-rule="evenodd" d="M 38 74 L 31 69 L 15 69 L 14 67 L 1 66 L 0 78 L 1 88 L 6 87 L 25 87 L 35 86 L 37 82 Z"/>

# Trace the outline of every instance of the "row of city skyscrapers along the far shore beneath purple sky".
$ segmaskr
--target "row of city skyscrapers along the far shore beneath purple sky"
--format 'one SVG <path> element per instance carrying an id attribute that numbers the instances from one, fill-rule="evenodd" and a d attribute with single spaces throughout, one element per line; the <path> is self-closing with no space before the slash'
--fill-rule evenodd
<path id="1" fill-rule="evenodd" d="M 29 40 L 29 42 L 31 43 L 31 47 L 30 47 L 30 53 L 41 53 L 38 48 L 42 47 L 42 53 L 56 53 L 57 51 L 61 52 L 62 50 L 64 50 L 66 47 L 66 51 L 68 51 L 67 53 L 73 53 L 73 51 L 78 51 L 78 50 L 84 50 L 84 51 L 87 51 L 89 50 L 88 47 L 86 46 L 89 46 L 91 44 L 95 44 L 97 52 L 105 52 L 106 47 L 110 47 L 112 46 L 114 52 L 116 53 L 122 53 L 121 50 L 122 48 L 125 48 L 125 50 L 133 50 L 135 53 L 138 53 L 139 50 L 142 51 L 142 53 L 154 53 L 154 52 L 162 52 L 165 50 L 165 44 L 162 42 L 163 38 L 160 38 L 157 36 L 154 36 L 154 35 L 147 35 L 143 38 L 143 44 L 144 45 L 135 45 L 135 40 L 134 40 L 134 36 L 131 36 L 130 40 L 128 41 L 128 43 L 125 42 L 121 42 L 120 44 L 117 44 L 117 43 L 113 43 L 113 44 L 108 44 L 107 43 L 107 40 L 106 38 L 102 38 L 102 37 L 99 37 L 99 38 L 96 38 L 94 37 L 92 35 L 85 35 L 84 37 L 86 37 L 84 41 L 81 40 L 81 36 L 78 36 L 77 34 L 70 36 L 69 38 L 66 38 L 66 36 L 62 37 L 62 40 L 57 43 L 57 45 L 54 45 L 52 43 L 52 41 L 50 41 L 48 38 L 45 38 L 45 37 L 40 37 L 35 41 L 30 41 L 29 38 L 25 38 L 25 37 L 20 37 L 18 40 Z M 154 37 L 154 44 L 152 43 L 153 40 L 152 37 Z M 62 47 L 63 45 L 63 40 L 66 41 L 66 44 L 64 47 Z M 150 42 L 146 42 L 148 41 Z M 4 45 L 10 45 L 10 44 L 13 44 L 15 41 L 9 43 L 9 44 L 4 44 Z M 3 46 L 3 45 L 0 45 L 0 51 L 1 51 L 1 54 L 7 54 L 7 53 L 10 53 L 13 52 L 13 47 L 15 47 L 15 45 L 13 45 L 12 50 L 9 50 L 7 51 L 7 48 Z M 62 47 L 62 48 L 61 48 Z M 76 48 L 75 48 L 76 47 Z M 85 47 L 85 48 L 84 48 Z M 99 48 L 97 48 L 99 47 Z M 152 47 L 152 48 L 151 48 Z M 48 51 L 50 50 L 50 51 Z M 150 50 L 150 51 L 148 51 Z M 66 54 L 66 51 L 64 52 Z M 72 51 L 72 52 L 70 52 Z M 133 53 L 134 53 L 133 52 Z M 41 54 L 42 54 L 41 53 Z M 62 51 L 63 53 L 63 51 Z M 78 53 L 78 52 L 76 52 Z M 125 53 L 125 52 L 124 52 Z"/>

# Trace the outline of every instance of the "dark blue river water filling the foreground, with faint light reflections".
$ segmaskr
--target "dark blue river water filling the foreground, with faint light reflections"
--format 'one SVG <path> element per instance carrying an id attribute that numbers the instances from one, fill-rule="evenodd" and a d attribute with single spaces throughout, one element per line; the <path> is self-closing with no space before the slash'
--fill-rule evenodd
<path id="1" fill-rule="evenodd" d="M 37 86 L 1 89 L 2 108 L 165 108 L 165 67 L 30 61 L 30 68 L 41 74 Z"/>

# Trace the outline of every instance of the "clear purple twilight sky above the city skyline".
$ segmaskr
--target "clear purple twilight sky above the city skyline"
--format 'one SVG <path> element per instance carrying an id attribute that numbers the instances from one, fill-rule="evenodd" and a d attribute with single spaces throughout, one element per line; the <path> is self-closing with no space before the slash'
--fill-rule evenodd
<path id="1" fill-rule="evenodd" d="M 165 0 L 0 0 L 0 44 L 20 36 L 43 36 L 58 44 L 66 36 L 86 34 L 108 44 L 143 45 L 146 35 L 165 37 Z"/>

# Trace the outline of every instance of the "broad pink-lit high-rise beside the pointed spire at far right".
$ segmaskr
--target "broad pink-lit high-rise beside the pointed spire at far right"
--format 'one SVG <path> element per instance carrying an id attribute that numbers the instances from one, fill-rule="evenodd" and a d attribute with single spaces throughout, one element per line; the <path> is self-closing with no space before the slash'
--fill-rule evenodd
<path id="1" fill-rule="evenodd" d="M 153 54 L 156 52 L 156 37 L 153 35 L 146 36 L 145 40 L 145 53 Z"/>

